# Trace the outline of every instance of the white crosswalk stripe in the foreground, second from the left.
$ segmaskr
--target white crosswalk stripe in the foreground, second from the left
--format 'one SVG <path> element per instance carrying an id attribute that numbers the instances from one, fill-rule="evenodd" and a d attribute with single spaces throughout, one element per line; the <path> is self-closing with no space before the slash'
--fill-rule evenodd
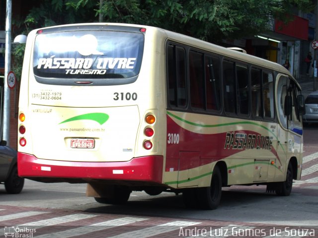
<path id="1" fill-rule="evenodd" d="M 93 214 L 72 214 L 72 215 L 67 215 L 63 217 L 55 217 L 51 219 L 46 219 L 42 221 L 36 221 L 36 222 L 29 222 L 29 223 L 24 223 L 19 226 L 54 226 L 58 225 L 61 223 L 66 223 L 66 222 L 74 222 L 86 218 L 92 218 L 96 217 L 98 215 L 93 215 Z"/>

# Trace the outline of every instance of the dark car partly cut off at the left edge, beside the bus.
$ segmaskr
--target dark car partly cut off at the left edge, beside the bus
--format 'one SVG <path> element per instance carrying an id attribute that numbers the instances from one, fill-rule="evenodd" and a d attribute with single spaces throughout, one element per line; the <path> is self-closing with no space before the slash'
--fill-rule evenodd
<path id="1" fill-rule="evenodd" d="M 16 151 L 0 142 L 0 183 L 4 184 L 7 193 L 16 194 L 22 191 L 24 179 L 18 177 Z"/>

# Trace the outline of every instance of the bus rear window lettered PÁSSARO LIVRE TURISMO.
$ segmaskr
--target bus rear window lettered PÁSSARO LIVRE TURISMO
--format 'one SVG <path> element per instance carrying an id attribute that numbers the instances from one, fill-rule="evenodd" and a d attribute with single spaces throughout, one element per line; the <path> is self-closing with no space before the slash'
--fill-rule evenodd
<path id="1" fill-rule="evenodd" d="M 66 31 L 38 34 L 33 72 L 37 80 L 46 82 L 74 78 L 128 79 L 139 74 L 143 48 L 142 33 Z"/>

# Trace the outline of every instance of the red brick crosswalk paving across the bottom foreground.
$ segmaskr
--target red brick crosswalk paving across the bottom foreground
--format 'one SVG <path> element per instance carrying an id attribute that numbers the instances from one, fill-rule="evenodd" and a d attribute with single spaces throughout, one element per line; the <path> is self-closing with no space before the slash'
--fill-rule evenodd
<path id="1" fill-rule="evenodd" d="M 9 219 L 0 222 L 0 237 L 4 237 L 5 227 L 16 227 L 28 222 L 43 221 L 59 218 L 70 214 L 87 214 L 83 211 L 66 209 L 44 209 L 34 207 L 17 207 L 0 205 L 0 218 L 10 214 L 23 212 L 45 212 L 27 218 Z M 292 235 L 307 235 L 305 237 L 318 237 L 318 228 L 285 227 L 259 223 L 227 222 L 218 220 L 180 219 L 166 217 L 127 216 L 118 214 L 94 214 L 91 218 L 79 221 L 65 222 L 56 226 L 20 226 L 19 229 L 28 229 L 19 232 L 19 235 L 28 235 L 34 229 L 32 237 L 47 238 L 109 238 L 109 237 L 136 237 L 136 238 L 176 238 L 176 237 L 295 237 Z M 141 219 L 128 225 L 112 226 L 111 221 L 116 219 Z M 92 226 L 101 222 L 110 221 L 110 226 Z M 172 223 L 171 226 L 162 224 Z M 177 225 L 177 224 L 181 225 Z M 184 226 L 182 224 L 185 224 Z M 188 226 L 186 224 L 189 224 Z M 192 224 L 192 225 L 191 225 Z M 275 232 L 279 232 L 275 236 Z M 2 235 L 2 236 L 1 236 Z"/>

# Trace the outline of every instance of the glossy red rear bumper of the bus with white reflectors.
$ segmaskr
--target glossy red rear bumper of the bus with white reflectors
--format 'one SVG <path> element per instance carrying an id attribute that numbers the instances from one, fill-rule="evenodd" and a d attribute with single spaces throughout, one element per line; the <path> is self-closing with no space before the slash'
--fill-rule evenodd
<path id="1" fill-rule="evenodd" d="M 18 152 L 17 164 L 20 177 L 38 181 L 98 179 L 162 183 L 163 156 L 138 157 L 127 162 L 75 162 L 38 159 Z"/>

